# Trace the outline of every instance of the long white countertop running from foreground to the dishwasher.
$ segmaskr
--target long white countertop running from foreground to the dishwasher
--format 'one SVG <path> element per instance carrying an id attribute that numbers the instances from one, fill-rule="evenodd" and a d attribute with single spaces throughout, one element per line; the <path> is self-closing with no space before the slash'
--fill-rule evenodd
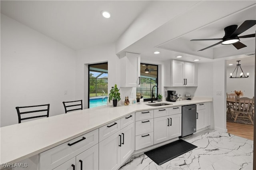
<path id="1" fill-rule="evenodd" d="M 159 107 L 148 106 L 146 102 L 143 105 L 137 103 L 119 107 L 102 106 L 1 127 L 0 163 L 19 162 L 136 111 L 206 102 L 212 102 L 212 97 L 163 101 L 172 105 Z"/>

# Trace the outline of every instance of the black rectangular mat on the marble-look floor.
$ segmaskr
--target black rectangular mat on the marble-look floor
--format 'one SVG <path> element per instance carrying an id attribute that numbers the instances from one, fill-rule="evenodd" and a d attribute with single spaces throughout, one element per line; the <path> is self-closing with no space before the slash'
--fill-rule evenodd
<path id="1" fill-rule="evenodd" d="M 194 144 L 188 143 L 185 140 L 179 139 L 172 143 L 154 148 L 147 152 L 144 152 L 150 159 L 156 164 L 162 165 L 177 156 L 180 156 L 194 148 L 197 148 Z"/>

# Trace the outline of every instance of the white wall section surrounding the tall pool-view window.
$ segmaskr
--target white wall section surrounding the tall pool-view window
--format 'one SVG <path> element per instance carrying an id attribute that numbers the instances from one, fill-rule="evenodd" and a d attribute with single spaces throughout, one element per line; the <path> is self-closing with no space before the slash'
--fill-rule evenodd
<path id="1" fill-rule="evenodd" d="M 108 92 L 115 84 L 120 85 L 118 56 L 115 45 L 106 44 L 77 51 L 76 57 L 76 99 L 83 99 L 84 108 L 88 108 L 88 64 L 108 62 Z M 119 104 L 120 102 L 118 102 Z"/>

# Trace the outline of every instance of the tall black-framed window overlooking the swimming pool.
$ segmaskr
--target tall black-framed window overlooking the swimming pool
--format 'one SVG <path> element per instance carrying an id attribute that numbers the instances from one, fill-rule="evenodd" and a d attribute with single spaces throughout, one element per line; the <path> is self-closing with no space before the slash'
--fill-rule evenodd
<path id="1" fill-rule="evenodd" d="M 88 108 L 107 105 L 108 63 L 89 65 Z"/>

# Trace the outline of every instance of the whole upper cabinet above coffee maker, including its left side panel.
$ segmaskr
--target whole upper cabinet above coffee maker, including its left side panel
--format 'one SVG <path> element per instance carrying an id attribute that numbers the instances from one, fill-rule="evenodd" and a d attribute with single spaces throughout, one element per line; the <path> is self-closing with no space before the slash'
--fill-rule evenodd
<path id="1" fill-rule="evenodd" d="M 172 77 L 170 77 L 170 72 Z M 197 65 L 185 61 L 172 60 L 164 64 L 165 87 L 197 86 Z"/>

